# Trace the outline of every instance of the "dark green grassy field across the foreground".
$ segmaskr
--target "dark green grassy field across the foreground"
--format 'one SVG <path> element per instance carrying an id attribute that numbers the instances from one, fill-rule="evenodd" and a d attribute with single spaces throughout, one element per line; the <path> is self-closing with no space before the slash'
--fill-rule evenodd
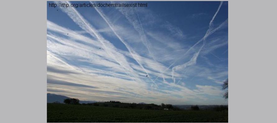
<path id="1" fill-rule="evenodd" d="M 47 122 L 228 122 L 228 112 L 141 110 L 47 103 Z"/>

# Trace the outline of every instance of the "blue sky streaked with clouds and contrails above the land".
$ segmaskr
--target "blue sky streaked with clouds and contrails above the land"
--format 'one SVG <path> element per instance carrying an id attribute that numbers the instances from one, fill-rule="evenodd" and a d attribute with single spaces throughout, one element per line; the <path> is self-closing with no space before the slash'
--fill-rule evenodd
<path id="1" fill-rule="evenodd" d="M 228 104 L 221 87 L 228 78 L 227 1 L 78 8 L 49 3 L 48 93 L 157 105 Z"/>

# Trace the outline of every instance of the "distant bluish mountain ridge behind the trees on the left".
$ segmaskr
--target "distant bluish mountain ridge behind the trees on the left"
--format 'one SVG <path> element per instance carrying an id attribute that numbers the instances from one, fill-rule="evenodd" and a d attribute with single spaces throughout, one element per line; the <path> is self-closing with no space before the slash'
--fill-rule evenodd
<path id="1" fill-rule="evenodd" d="M 67 98 L 70 98 L 70 97 L 66 97 L 66 96 L 63 96 L 63 95 L 57 95 L 57 94 L 53 94 L 53 93 L 47 93 L 47 103 L 53 103 L 53 102 L 56 102 L 56 103 L 63 103 L 63 100 L 64 99 L 67 99 Z M 96 101 L 81 101 L 80 100 L 80 103 L 94 103 Z"/>

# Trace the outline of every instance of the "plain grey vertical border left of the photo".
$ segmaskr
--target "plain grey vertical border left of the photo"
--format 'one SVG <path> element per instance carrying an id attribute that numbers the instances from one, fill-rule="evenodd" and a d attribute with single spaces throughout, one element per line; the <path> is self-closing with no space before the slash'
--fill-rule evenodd
<path id="1" fill-rule="evenodd" d="M 2 123 L 46 122 L 46 1 L 2 1 Z"/>

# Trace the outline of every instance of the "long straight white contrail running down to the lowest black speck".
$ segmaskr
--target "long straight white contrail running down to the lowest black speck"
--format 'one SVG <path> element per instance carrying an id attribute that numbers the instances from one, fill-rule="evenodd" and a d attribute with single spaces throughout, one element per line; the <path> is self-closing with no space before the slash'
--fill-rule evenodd
<path id="1" fill-rule="evenodd" d="M 91 2 L 92 3 L 92 2 Z M 94 7 L 95 10 L 99 13 L 99 15 L 106 21 L 106 23 L 108 24 L 108 26 L 110 27 L 110 29 L 114 32 L 114 34 L 116 35 L 116 37 L 126 46 L 126 48 L 129 50 L 129 53 L 132 55 L 132 57 L 136 60 L 136 62 L 139 64 L 139 66 L 144 70 L 144 72 L 147 74 L 148 78 L 153 81 L 150 77 L 148 72 L 144 69 L 143 65 L 137 60 L 136 56 L 138 56 L 138 54 L 131 49 L 131 47 L 116 33 L 116 31 L 113 28 L 113 25 L 111 24 L 111 22 L 108 20 L 108 18 L 106 17 L 106 15 L 100 10 L 98 9 L 98 7 Z M 153 83 L 158 87 L 158 85 L 153 81 Z"/>

